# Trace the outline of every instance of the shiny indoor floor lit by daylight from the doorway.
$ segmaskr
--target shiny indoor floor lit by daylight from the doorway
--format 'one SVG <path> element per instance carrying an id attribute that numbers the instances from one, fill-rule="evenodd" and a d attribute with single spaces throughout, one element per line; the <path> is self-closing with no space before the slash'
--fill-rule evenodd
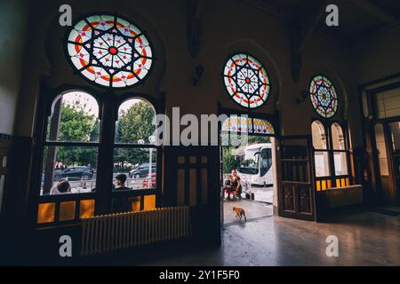
<path id="1" fill-rule="evenodd" d="M 326 256 L 326 237 L 339 256 Z M 400 265 L 400 217 L 369 211 L 330 224 L 283 217 L 225 227 L 220 248 L 157 256 L 144 265 Z"/>

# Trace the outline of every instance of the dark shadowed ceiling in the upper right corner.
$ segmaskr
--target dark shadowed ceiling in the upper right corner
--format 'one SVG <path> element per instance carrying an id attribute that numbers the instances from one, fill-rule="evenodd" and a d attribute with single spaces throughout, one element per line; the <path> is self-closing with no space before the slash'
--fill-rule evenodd
<path id="1" fill-rule="evenodd" d="M 398 0 L 241 0 L 256 9 L 283 18 L 299 20 L 302 33 L 314 33 L 348 46 L 381 30 L 400 24 Z M 325 7 L 339 8 L 339 27 L 325 24 Z"/>

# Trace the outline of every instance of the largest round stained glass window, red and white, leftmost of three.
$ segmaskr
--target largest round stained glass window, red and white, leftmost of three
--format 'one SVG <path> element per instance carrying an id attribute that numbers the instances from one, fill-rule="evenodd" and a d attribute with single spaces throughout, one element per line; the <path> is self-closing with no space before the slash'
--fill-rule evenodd
<path id="1" fill-rule="evenodd" d="M 124 88 L 141 83 L 153 65 L 148 37 L 119 16 L 93 15 L 68 34 L 68 58 L 92 83 Z"/>

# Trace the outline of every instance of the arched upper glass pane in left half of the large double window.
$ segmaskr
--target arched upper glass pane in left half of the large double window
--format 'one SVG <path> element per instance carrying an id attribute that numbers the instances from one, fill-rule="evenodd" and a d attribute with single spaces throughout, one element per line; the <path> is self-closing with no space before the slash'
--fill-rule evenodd
<path id="1" fill-rule="evenodd" d="M 47 141 L 99 141 L 99 105 L 91 95 L 71 91 L 52 104 L 52 115 L 47 124 Z"/>

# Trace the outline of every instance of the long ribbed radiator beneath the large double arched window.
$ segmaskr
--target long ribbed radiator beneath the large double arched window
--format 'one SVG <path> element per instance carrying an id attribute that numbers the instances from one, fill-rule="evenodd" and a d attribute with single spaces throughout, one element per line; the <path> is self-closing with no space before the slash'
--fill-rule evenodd
<path id="1" fill-rule="evenodd" d="M 190 236 L 189 207 L 159 208 L 82 220 L 81 256 Z"/>

